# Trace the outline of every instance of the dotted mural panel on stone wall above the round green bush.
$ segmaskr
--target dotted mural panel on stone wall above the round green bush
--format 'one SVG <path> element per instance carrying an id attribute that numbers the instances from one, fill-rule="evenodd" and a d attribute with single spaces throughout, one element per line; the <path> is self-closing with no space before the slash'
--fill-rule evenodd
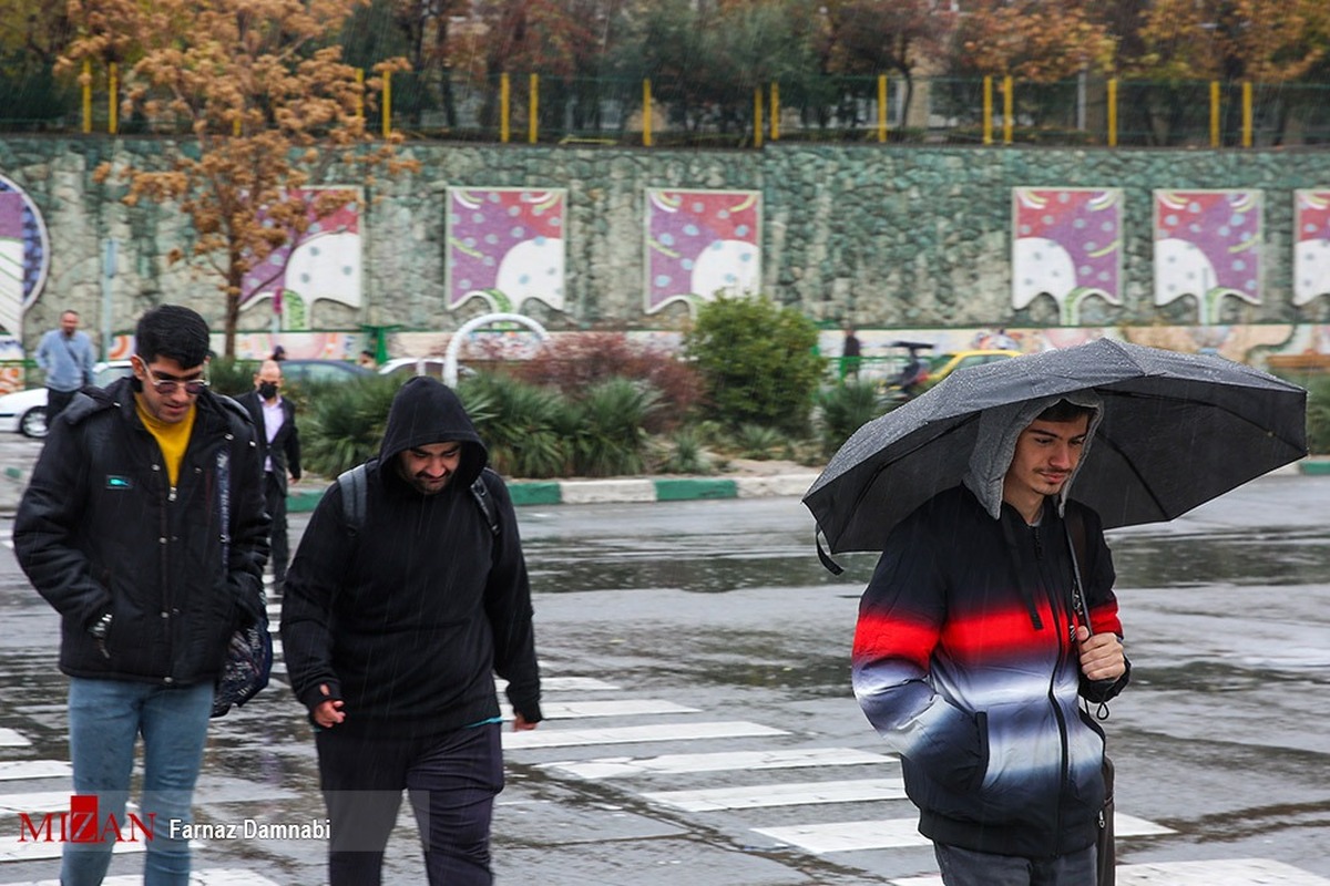
<path id="1" fill-rule="evenodd" d="M 757 295 L 759 191 L 646 190 L 646 313 L 717 294 Z"/>

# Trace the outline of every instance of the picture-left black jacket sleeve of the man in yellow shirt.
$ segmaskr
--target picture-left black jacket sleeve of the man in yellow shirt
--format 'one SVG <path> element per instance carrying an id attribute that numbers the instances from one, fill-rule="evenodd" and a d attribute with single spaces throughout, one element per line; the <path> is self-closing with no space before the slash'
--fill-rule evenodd
<path id="1" fill-rule="evenodd" d="M 76 533 L 88 498 L 82 425 L 55 422 L 13 523 L 13 550 L 32 586 L 63 616 L 88 626 L 110 608 Z"/>

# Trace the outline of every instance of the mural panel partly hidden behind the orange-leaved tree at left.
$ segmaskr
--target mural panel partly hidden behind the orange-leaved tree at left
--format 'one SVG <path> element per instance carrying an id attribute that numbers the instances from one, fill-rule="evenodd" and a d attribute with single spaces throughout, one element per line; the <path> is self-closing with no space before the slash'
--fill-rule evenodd
<path id="1" fill-rule="evenodd" d="M 310 328 L 310 310 L 319 299 L 359 308 L 364 298 L 360 258 L 359 187 L 301 187 L 293 195 L 306 199 L 310 227 L 294 244 L 283 243 L 245 275 L 241 310 L 266 308 L 281 316 L 283 329 Z M 346 194 L 347 202 L 318 218 L 315 199 L 322 194 Z M 262 214 L 259 215 L 262 219 Z M 294 246 L 294 248 L 293 248 Z"/>

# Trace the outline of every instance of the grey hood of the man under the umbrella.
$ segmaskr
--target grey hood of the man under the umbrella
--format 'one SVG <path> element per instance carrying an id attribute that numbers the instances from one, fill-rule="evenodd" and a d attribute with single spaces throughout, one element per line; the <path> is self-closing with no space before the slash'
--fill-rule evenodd
<path id="1" fill-rule="evenodd" d="M 1063 490 L 1057 495 L 1057 514 L 1063 515 L 1067 510 L 1067 497 L 1071 494 L 1072 484 L 1076 482 L 1076 476 L 1085 465 L 1085 458 L 1089 457 L 1089 445 L 1095 440 L 1095 430 L 1099 429 L 1099 422 L 1104 417 L 1104 401 L 1100 396 L 1093 391 L 1073 391 L 1072 393 L 994 406 L 980 413 L 979 438 L 970 454 L 970 469 L 966 472 L 963 482 L 994 519 L 1001 518 L 1001 484 L 1007 469 L 1011 468 L 1011 458 L 1016 454 L 1016 438 L 1020 437 L 1021 430 L 1029 426 L 1029 422 L 1039 417 L 1039 413 L 1059 400 L 1095 410 L 1089 418 L 1089 430 L 1085 434 L 1085 446 L 1081 449 L 1080 461 L 1076 462 L 1076 469 L 1063 484 Z"/>

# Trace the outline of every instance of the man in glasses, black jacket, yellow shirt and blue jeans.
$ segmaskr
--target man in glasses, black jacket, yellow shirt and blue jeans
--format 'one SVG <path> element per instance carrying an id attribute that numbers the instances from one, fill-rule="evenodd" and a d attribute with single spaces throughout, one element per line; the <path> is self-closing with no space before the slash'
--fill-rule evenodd
<path id="1" fill-rule="evenodd" d="M 145 879 L 189 881 L 189 841 L 173 837 L 188 828 L 173 822 L 190 822 L 231 634 L 265 618 L 258 449 L 243 410 L 207 391 L 207 339 L 189 308 L 145 313 L 133 376 L 84 389 L 52 422 L 15 518 L 19 563 L 61 616 L 74 790 L 93 797 L 70 813 L 90 840 L 65 843 L 66 886 L 100 883 L 112 836 L 133 834 L 140 733 L 141 821 L 156 822 Z"/>

